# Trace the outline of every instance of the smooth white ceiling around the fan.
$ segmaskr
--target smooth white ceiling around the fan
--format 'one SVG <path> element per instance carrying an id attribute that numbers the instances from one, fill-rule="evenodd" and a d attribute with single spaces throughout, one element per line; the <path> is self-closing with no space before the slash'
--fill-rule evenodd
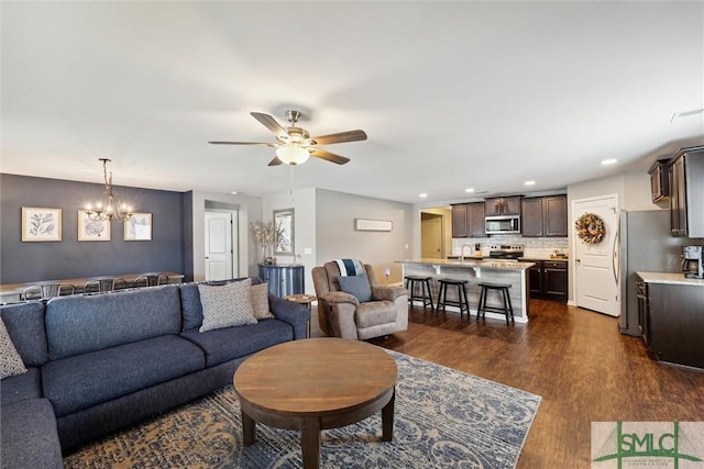
<path id="1" fill-rule="evenodd" d="M 0 2 L 0 171 L 288 190 L 251 111 L 364 130 L 296 188 L 419 202 L 527 193 L 704 143 L 704 1 Z M 605 158 L 618 164 L 603 167 Z M 524 181 L 535 180 L 526 188 Z"/>

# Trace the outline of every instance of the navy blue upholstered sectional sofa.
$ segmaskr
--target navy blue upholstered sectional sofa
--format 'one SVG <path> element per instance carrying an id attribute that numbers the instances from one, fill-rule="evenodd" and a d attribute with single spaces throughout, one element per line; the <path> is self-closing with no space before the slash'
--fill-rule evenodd
<path id="1" fill-rule="evenodd" d="M 306 337 L 305 306 L 270 294 L 270 309 L 274 319 L 200 333 L 197 283 L 1 306 L 29 370 L 0 384 L 2 469 L 63 467 L 62 453 L 230 384 L 250 355 Z"/>

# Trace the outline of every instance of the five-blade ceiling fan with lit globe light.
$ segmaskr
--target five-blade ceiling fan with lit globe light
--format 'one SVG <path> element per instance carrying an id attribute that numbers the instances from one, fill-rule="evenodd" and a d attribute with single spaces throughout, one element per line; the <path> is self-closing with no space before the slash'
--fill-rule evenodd
<path id="1" fill-rule="evenodd" d="M 250 114 L 252 114 L 254 119 L 260 121 L 266 129 L 268 129 L 274 133 L 274 135 L 276 135 L 276 143 L 221 141 L 209 141 L 208 143 L 213 145 L 271 146 L 273 148 L 276 148 L 276 157 L 270 161 L 268 166 L 278 166 L 284 163 L 287 165 L 296 166 L 306 163 L 310 156 L 337 163 L 338 165 L 344 165 L 345 163 L 350 161 L 350 158 L 336 155 L 334 153 L 330 153 L 318 147 L 320 145 L 331 145 L 336 143 L 358 142 L 366 139 L 366 134 L 364 133 L 364 131 L 360 130 L 310 137 L 310 134 L 307 130 L 296 126 L 298 119 L 300 119 L 300 111 L 296 110 L 286 111 L 286 118 L 290 123 L 290 126 L 288 127 L 280 126 L 278 122 L 276 122 L 276 120 L 268 114 L 263 114 L 261 112 L 250 112 Z"/>

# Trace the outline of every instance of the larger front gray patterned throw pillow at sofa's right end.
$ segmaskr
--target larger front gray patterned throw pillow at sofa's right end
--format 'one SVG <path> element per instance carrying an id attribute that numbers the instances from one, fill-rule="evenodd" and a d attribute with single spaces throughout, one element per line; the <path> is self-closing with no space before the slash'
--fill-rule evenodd
<path id="1" fill-rule="evenodd" d="M 198 331 L 256 324 L 250 287 L 252 279 L 223 286 L 199 284 L 202 325 Z"/>

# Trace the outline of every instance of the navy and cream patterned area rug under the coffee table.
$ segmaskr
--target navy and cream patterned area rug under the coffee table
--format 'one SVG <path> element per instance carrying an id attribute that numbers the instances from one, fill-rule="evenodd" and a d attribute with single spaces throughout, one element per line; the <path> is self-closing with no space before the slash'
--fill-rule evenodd
<path id="1" fill-rule="evenodd" d="M 381 413 L 321 434 L 321 468 L 514 468 L 540 397 L 389 351 L 398 364 L 393 442 Z M 301 364 L 305 366 L 305 364 Z M 298 432 L 256 425 L 242 445 L 232 387 L 64 459 L 68 468 L 301 468 Z"/>

